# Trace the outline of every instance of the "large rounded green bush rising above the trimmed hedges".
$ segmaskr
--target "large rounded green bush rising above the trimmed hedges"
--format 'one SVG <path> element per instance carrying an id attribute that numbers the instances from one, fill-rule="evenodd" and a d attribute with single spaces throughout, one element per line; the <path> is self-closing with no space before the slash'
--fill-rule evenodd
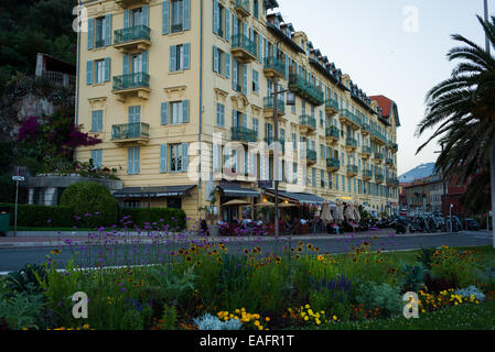
<path id="1" fill-rule="evenodd" d="M 82 219 L 79 227 L 112 226 L 117 221 L 117 202 L 107 187 L 92 182 L 68 186 L 61 198 L 61 206 L 72 207 Z"/>

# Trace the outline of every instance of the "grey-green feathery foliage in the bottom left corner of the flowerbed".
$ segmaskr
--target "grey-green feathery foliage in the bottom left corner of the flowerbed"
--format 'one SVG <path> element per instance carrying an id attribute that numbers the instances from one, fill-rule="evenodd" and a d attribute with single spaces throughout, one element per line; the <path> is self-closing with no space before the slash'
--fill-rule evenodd
<path id="1" fill-rule="evenodd" d="M 14 293 L 0 297 L 0 321 L 10 330 L 39 329 L 43 295 Z"/>

